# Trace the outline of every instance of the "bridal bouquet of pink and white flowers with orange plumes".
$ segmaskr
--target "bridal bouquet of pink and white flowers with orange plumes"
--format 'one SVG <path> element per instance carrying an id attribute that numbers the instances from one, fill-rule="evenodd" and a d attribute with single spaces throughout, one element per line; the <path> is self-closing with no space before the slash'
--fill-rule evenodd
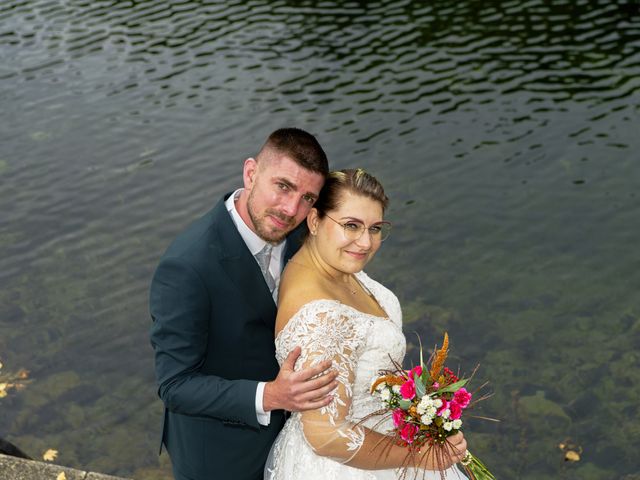
<path id="1" fill-rule="evenodd" d="M 393 440 L 407 447 L 410 454 L 421 448 L 447 448 L 447 437 L 462 428 L 462 415 L 472 404 L 473 395 L 465 388 L 469 379 L 459 378 L 444 365 L 448 350 L 449 336 L 445 333 L 442 347 L 432 355 L 429 368 L 420 348 L 420 365 L 409 371 L 398 366 L 371 385 L 371 393 L 385 404 L 378 413 L 391 415 L 393 419 Z M 435 454 L 437 460 L 442 450 Z M 495 480 L 469 451 L 460 463 L 472 480 Z"/>

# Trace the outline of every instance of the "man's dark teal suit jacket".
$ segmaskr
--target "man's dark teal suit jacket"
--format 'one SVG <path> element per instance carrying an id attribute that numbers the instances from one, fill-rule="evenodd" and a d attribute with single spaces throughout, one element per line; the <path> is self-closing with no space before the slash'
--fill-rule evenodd
<path id="1" fill-rule="evenodd" d="M 225 196 L 227 198 L 228 195 Z M 285 262 L 300 245 L 287 240 Z M 180 480 L 258 480 L 284 412 L 256 418 L 259 381 L 273 380 L 276 306 L 224 199 L 163 255 L 150 289 L 162 441 Z"/>

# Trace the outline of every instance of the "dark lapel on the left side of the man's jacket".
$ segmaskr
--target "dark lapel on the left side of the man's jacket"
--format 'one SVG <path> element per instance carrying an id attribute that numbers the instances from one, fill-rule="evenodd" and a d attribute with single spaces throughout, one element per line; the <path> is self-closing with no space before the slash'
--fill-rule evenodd
<path id="1" fill-rule="evenodd" d="M 224 200 L 214 208 L 213 221 L 220 242 L 220 265 L 245 297 L 247 305 L 259 312 L 265 323 L 275 326 L 276 305 L 269 287 L 262 277 L 258 263 L 231 220 Z"/>

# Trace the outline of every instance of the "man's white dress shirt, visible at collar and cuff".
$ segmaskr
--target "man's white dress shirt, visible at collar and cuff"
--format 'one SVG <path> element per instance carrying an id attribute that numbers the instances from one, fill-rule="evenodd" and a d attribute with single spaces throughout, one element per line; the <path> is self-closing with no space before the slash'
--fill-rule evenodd
<path id="1" fill-rule="evenodd" d="M 251 230 L 247 226 L 247 224 L 244 222 L 244 220 L 236 210 L 235 201 L 240 196 L 242 190 L 242 188 L 239 188 L 238 190 L 233 192 L 233 194 L 230 195 L 225 202 L 225 206 L 227 207 L 227 211 L 231 215 L 231 220 L 233 220 L 233 223 L 238 229 L 238 233 L 240 233 L 242 240 L 244 240 L 247 248 L 249 248 L 251 255 L 255 257 L 256 254 L 264 248 L 267 242 L 261 239 L 253 230 Z M 278 245 L 274 245 L 273 250 L 271 250 L 269 273 L 271 273 L 271 276 L 276 282 L 276 288 L 273 289 L 272 293 L 274 302 L 278 298 L 278 286 L 280 285 L 280 272 L 282 271 L 282 257 L 284 254 L 285 243 L 286 240 L 283 240 Z M 256 390 L 256 416 L 258 417 L 258 423 L 260 423 L 260 425 L 266 426 L 271 422 L 271 412 L 265 412 L 262 404 L 265 383 L 266 382 L 258 382 L 258 389 Z"/>

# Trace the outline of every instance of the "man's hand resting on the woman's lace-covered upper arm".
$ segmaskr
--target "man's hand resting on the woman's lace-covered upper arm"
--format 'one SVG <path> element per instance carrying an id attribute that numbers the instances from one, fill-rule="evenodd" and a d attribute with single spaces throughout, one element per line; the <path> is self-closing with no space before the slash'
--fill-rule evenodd
<path id="1" fill-rule="evenodd" d="M 276 379 L 265 385 L 262 399 L 265 411 L 301 412 L 331 403 L 330 394 L 338 386 L 338 372 L 331 370 L 331 360 L 296 372 L 294 366 L 301 352 L 300 347 L 291 350 Z"/>

